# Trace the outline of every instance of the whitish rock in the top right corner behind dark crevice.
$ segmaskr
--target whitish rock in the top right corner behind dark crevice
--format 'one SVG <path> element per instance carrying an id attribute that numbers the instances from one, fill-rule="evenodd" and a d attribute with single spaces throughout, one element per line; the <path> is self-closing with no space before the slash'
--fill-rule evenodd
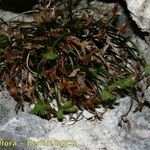
<path id="1" fill-rule="evenodd" d="M 133 20 L 142 31 L 150 33 L 150 0 L 126 0 Z"/>

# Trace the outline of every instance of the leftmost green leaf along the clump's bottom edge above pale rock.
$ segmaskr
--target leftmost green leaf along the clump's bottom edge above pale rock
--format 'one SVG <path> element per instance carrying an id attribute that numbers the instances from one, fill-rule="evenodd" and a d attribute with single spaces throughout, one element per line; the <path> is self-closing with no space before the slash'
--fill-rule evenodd
<path id="1" fill-rule="evenodd" d="M 35 104 L 35 107 L 32 110 L 32 112 L 36 115 L 44 116 L 47 114 L 47 111 L 49 108 L 50 108 L 50 106 L 48 104 L 46 104 L 44 101 L 38 100 L 38 102 Z"/>

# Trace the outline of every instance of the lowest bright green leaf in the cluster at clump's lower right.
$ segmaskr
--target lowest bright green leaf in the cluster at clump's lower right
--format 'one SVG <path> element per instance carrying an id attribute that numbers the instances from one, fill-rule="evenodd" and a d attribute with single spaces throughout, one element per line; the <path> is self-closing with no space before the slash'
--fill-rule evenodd
<path id="1" fill-rule="evenodd" d="M 101 93 L 101 98 L 102 101 L 114 101 L 117 99 L 117 96 L 105 89 Z"/>

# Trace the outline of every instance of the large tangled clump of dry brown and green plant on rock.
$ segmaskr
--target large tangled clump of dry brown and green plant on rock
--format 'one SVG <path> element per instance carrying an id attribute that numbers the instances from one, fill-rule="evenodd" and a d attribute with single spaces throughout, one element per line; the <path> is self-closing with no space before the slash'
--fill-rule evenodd
<path id="1" fill-rule="evenodd" d="M 60 3 L 40 1 L 31 23 L 0 21 L 1 84 L 19 106 L 35 103 L 33 113 L 46 119 L 111 108 L 119 96 L 141 104 L 146 63 L 131 38 L 123 37 L 128 23 L 112 25 L 116 6 L 106 21 L 73 10 L 71 1 L 68 9 Z"/>

